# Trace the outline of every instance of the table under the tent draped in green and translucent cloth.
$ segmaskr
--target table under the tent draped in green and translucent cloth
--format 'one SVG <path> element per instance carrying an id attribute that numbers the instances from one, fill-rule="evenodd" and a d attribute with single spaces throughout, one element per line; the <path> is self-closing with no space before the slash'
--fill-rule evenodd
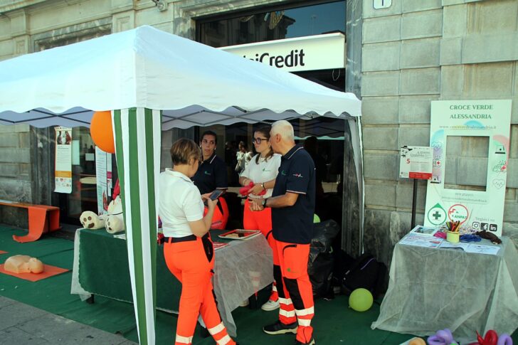
<path id="1" fill-rule="evenodd" d="M 247 240 L 223 240 L 225 230 L 211 230 L 213 240 L 227 242 L 215 251 L 213 287 L 218 310 L 236 336 L 233 309 L 255 292 L 273 282 L 272 250 L 263 235 Z M 70 292 L 88 299 L 98 294 L 132 302 L 126 240 L 106 230 L 78 229 L 75 232 L 74 263 Z M 166 267 L 164 248 L 157 246 L 157 309 L 177 312 L 181 284 Z"/>

